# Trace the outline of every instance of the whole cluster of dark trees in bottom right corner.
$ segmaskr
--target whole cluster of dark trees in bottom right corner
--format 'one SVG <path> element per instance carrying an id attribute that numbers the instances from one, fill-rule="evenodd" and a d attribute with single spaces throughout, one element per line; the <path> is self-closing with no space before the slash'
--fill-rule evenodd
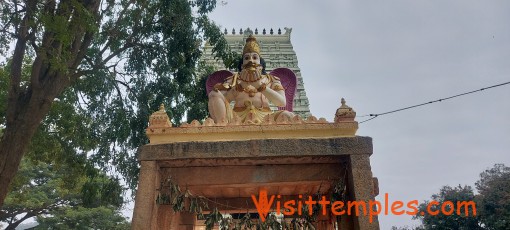
<path id="1" fill-rule="evenodd" d="M 475 185 L 478 194 L 470 186 L 441 188 L 439 193 L 432 195 L 432 200 L 439 204 L 431 206 L 431 211 L 441 210 L 444 202 L 451 201 L 455 204 L 455 212 L 451 215 L 430 215 L 427 212 L 430 201 L 425 201 L 419 205 L 418 215 L 414 217 L 422 221 L 422 226 L 416 229 L 510 229 L 510 167 L 494 165 L 480 174 Z M 457 213 L 457 201 L 474 201 L 476 215 L 471 207 L 468 215 L 463 208 Z M 450 209 L 447 207 L 445 210 Z"/>

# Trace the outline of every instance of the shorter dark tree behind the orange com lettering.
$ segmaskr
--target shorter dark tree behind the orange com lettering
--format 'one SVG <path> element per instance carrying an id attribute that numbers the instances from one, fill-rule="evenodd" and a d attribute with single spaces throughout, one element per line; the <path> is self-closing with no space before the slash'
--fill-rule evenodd
<path id="1" fill-rule="evenodd" d="M 444 230 L 476 230 L 483 229 L 480 226 L 480 221 L 477 216 L 474 216 L 474 210 L 471 206 L 468 207 L 468 214 L 465 214 L 464 207 L 457 205 L 458 202 L 473 201 L 475 194 L 470 186 L 457 186 L 450 187 L 444 186 L 441 188 L 439 193 L 432 195 L 432 200 L 438 202 L 438 204 L 430 205 L 431 201 L 425 201 L 418 206 L 418 215 L 414 219 L 420 219 L 424 229 L 444 229 Z M 452 202 L 453 206 L 449 203 Z M 430 206 L 430 207 L 429 207 Z M 460 210 L 460 214 L 457 209 Z M 429 213 L 429 210 L 433 213 L 437 212 L 437 215 Z M 453 210 L 452 210 L 453 209 Z M 447 212 L 444 213 L 443 211 Z M 451 212 L 453 211 L 453 212 Z M 451 214 L 448 214 L 451 212 Z M 423 213 L 423 215 L 422 215 Z"/>

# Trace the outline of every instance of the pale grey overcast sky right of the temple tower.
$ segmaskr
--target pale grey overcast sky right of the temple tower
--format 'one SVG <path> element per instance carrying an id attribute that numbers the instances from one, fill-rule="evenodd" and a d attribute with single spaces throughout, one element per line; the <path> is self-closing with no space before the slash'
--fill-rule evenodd
<path id="1" fill-rule="evenodd" d="M 232 0 L 211 18 L 229 32 L 291 27 L 311 112 L 332 121 L 341 97 L 364 115 L 510 81 L 509 12 L 507 0 Z M 360 124 L 380 193 L 421 202 L 510 166 L 509 99 L 506 85 Z"/>

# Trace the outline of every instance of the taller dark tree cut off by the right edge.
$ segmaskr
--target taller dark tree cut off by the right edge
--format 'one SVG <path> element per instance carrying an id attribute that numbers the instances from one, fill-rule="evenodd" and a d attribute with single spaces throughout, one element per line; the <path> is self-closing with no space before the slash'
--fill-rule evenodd
<path id="1" fill-rule="evenodd" d="M 496 164 L 476 183 L 480 219 L 486 229 L 510 229 L 510 167 Z"/>

